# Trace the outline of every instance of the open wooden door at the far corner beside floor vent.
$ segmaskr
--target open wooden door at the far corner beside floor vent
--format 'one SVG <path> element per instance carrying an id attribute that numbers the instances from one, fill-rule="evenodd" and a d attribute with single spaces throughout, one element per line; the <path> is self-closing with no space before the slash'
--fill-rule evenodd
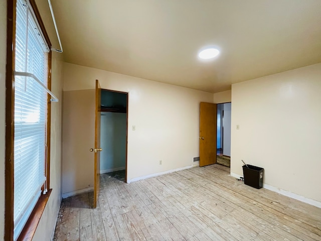
<path id="1" fill-rule="evenodd" d="M 200 104 L 200 167 L 216 163 L 217 104 Z"/>

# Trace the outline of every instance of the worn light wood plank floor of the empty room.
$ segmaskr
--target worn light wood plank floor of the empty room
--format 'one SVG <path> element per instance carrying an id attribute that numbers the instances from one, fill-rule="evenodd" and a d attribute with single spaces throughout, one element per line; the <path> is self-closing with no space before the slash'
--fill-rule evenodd
<path id="1" fill-rule="evenodd" d="M 229 176 L 218 164 L 127 184 L 101 175 L 63 199 L 54 240 L 321 240 L 321 209 Z"/>

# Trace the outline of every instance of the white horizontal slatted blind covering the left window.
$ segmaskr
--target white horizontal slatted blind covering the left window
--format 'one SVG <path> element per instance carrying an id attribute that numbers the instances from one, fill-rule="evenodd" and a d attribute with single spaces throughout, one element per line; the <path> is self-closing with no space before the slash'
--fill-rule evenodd
<path id="1" fill-rule="evenodd" d="M 46 41 L 28 1 L 17 0 L 15 71 L 34 74 L 47 86 Z M 46 166 L 47 92 L 30 77 L 15 77 L 14 238 L 34 209 Z"/>

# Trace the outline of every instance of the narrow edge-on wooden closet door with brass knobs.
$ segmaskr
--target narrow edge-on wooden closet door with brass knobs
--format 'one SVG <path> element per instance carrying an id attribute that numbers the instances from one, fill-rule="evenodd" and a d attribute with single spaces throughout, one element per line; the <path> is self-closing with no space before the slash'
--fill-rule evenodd
<path id="1" fill-rule="evenodd" d="M 94 157 L 94 202 L 93 208 L 96 208 L 99 187 L 100 187 L 100 104 L 101 104 L 101 87 L 99 81 L 96 79 L 96 93 L 95 93 L 95 157 Z"/>

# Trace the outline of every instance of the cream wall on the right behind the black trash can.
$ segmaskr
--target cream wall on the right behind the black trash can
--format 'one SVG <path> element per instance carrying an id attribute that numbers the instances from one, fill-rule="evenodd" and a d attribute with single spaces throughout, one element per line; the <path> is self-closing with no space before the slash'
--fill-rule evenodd
<path id="1" fill-rule="evenodd" d="M 320 93 L 321 63 L 233 84 L 231 173 L 244 160 L 265 184 L 320 202 Z"/>

